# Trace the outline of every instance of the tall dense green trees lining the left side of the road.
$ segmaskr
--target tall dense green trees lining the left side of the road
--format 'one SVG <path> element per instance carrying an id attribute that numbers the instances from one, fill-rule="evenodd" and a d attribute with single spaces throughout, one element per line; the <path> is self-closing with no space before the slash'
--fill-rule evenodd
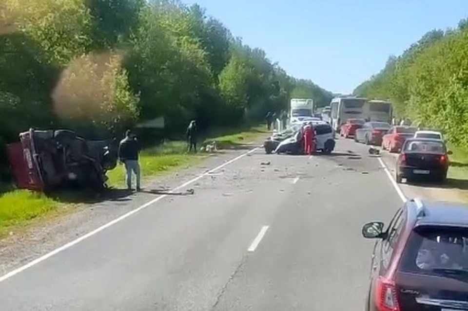
<path id="1" fill-rule="evenodd" d="M 297 86 L 296 86 L 297 85 Z M 293 91 L 298 90 L 301 91 Z M 296 81 L 198 5 L 177 0 L 4 0 L 0 146 L 30 127 L 121 133 L 164 116 L 166 132 L 236 126 L 286 109 Z M 1 152 L 1 151 L 0 151 Z M 1 160 L 0 160 L 1 162 Z"/>

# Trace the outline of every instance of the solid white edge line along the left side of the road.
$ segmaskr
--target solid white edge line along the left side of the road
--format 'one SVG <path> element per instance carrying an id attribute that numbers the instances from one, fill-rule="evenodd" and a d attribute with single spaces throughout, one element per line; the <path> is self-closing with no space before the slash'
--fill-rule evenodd
<path id="1" fill-rule="evenodd" d="M 222 167 L 224 167 L 224 166 L 226 166 L 226 165 L 229 165 L 229 164 L 233 163 L 234 161 L 237 161 L 237 160 L 239 160 L 239 159 L 245 157 L 246 155 L 248 155 L 248 154 L 254 152 L 254 151 L 257 150 L 257 149 L 258 149 L 258 147 L 257 147 L 257 148 L 254 148 L 254 149 L 252 149 L 252 150 L 249 150 L 249 151 L 247 151 L 247 152 L 245 152 L 245 153 L 243 153 L 243 154 L 241 154 L 241 155 L 235 157 L 234 159 L 231 159 L 231 160 L 229 160 L 229 161 L 227 161 L 227 162 L 225 162 L 225 163 L 223 163 L 223 164 L 221 164 L 221 165 L 219 165 L 219 166 L 217 166 L 217 167 L 215 167 L 215 168 L 213 168 L 213 169 L 211 169 L 211 170 L 209 170 L 209 171 L 207 171 L 207 172 L 205 172 L 205 173 L 199 175 L 198 177 L 195 177 L 194 179 L 189 180 L 188 182 L 183 183 L 183 184 L 177 186 L 176 188 L 172 189 L 170 192 L 175 192 L 175 191 L 177 191 L 177 190 L 179 190 L 179 189 L 181 189 L 181 188 L 183 188 L 183 187 L 188 186 L 188 185 L 191 184 L 191 183 L 195 183 L 195 182 L 196 182 L 197 180 L 199 180 L 200 178 L 203 178 L 204 176 L 207 176 L 207 175 L 209 175 L 209 174 L 215 172 L 216 170 L 218 170 L 218 169 L 220 169 L 220 168 L 222 168 Z M 12 276 L 15 275 L 15 274 L 19 274 L 20 272 L 22 272 L 22 271 L 24 271 L 24 270 L 26 270 L 26 269 L 28 269 L 28 268 L 31 268 L 32 266 L 37 265 L 39 262 L 42 262 L 42 261 L 46 260 L 47 258 L 50 258 L 50 257 L 52 257 L 52 256 L 54 256 L 54 255 L 57 255 L 58 253 L 60 253 L 60 252 L 62 252 L 62 251 L 64 251 L 64 250 L 66 250 L 66 249 L 72 247 L 72 246 L 75 245 L 75 244 L 78 244 L 79 242 L 81 242 L 81 241 L 83 241 L 83 240 L 85 240 L 85 239 L 87 239 L 87 238 L 89 238 L 89 237 L 94 236 L 94 235 L 97 234 L 98 232 L 100 232 L 100 231 L 102 231 L 102 230 L 104 230 L 104 229 L 106 229 L 106 228 L 108 228 L 108 227 L 110 227 L 110 226 L 116 224 L 116 223 L 119 222 L 119 221 L 122 221 L 122 220 L 124 220 L 124 219 L 126 219 L 126 218 L 132 216 L 132 215 L 135 214 L 135 213 L 138 213 L 138 212 L 141 211 L 142 209 L 147 208 L 147 207 L 150 206 L 151 204 L 154 204 L 154 203 L 156 203 L 157 201 L 160 201 L 160 200 L 162 200 L 163 198 L 165 198 L 165 197 L 167 197 L 167 196 L 168 196 L 168 194 L 164 194 L 164 195 L 161 195 L 161 196 L 155 198 L 154 200 L 148 201 L 148 202 L 146 202 L 145 204 L 141 205 L 140 207 L 137 207 L 136 209 L 131 210 L 131 211 L 128 212 L 127 214 L 124 214 L 124 215 L 122 215 L 122 216 L 116 218 L 115 220 L 111 220 L 111 221 L 109 221 L 108 223 L 106 223 L 106 224 L 104 224 L 104 225 L 98 227 L 97 229 L 95 229 L 95 230 L 93 230 L 93 231 L 91 231 L 91 232 L 89 232 L 89 233 L 87 233 L 87 234 L 85 234 L 85 235 L 83 235 L 83 236 L 81 236 L 81 237 L 79 237 L 79 238 L 77 238 L 77 239 L 71 241 L 71 242 L 68 242 L 68 243 L 66 243 L 65 245 L 62 245 L 62 246 L 60 246 L 59 248 L 56 248 L 55 250 L 51 251 L 50 253 L 47 253 L 47 254 L 45 254 L 45 255 L 43 255 L 43 256 L 40 256 L 39 258 L 36 258 L 36 259 L 34 259 L 33 261 L 30 261 L 30 262 L 28 262 L 27 264 L 25 264 L 25 265 L 23 265 L 23 266 L 21 266 L 21 267 L 15 269 L 15 270 L 13 270 L 13 271 L 10 271 L 10 272 L 7 273 L 7 274 L 4 274 L 4 275 L 0 276 L 0 282 L 2 282 L 2 281 L 4 281 L 4 280 L 6 280 L 6 279 L 12 277 Z"/>

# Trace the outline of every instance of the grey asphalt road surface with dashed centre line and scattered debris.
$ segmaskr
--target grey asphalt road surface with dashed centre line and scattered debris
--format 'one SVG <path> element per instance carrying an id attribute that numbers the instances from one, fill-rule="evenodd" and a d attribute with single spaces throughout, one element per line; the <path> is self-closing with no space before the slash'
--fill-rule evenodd
<path id="1" fill-rule="evenodd" d="M 195 195 L 0 278 L 0 310 L 363 310 L 373 243 L 361 226 L 402 204 L 367 149 L 255 150 L 180 189 Z"/>

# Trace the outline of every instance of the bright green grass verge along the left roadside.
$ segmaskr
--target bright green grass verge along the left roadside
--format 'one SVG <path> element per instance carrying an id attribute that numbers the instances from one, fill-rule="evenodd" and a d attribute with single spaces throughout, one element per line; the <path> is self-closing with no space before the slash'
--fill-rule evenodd
<path id="1" fill-rule="evenodd" d="M 218 129 L 205 139 L 206 142 L 216 141 L 218 148 L 228 148 L 245 144 L 264 136 L 267 131 L 264 126 L 241 128 L 237 130 Z M 177 168 L 193 165 L 206 157 L 206 154 L 188 154 L 185 142 L 167 142 L 160 146 L 146 148 L 140 154 L 140 167 L 144 180 L 167 173 Z M 113 187 L 124 185 L 125 171 L 123 165 L 108 172 L 108 184 Z M 33 221 L 48 219 L 51 216 L 70 211 L 84 201 L 79 194 L 66 196 L 34 193 L 28 190 L 9 188 L 0 185 L 0 238 L 12 230 L 31 224 Z M 83 199 L 81 201 L 81 199 Z M 74 202 L 74 203 L 71 203 Z M 78 203 L 78 204 L 76 204 Z"/>

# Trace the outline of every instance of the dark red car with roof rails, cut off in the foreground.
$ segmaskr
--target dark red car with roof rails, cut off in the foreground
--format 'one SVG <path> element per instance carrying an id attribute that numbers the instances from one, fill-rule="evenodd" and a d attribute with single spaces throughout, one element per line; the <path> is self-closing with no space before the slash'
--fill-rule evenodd
<path id="1" fill-rule="evenodd" d="M 468 205 L 410 200 L 362 227 L 377 239 L 366 311 L 468 310 Z"/>

